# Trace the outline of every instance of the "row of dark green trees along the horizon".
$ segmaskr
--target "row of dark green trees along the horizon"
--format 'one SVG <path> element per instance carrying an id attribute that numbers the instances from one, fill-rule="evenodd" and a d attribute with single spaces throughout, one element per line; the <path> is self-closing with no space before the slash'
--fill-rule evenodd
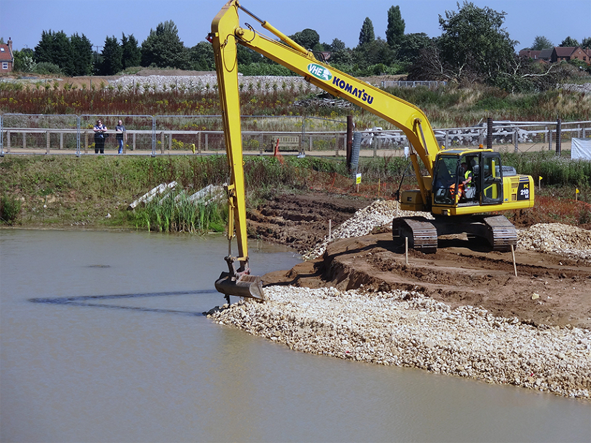
<path id="1" fill-rule="evenodd" d="M 441 36 L 405 33 L 400 7 L 388 10 L 386 38 L 375 36 L 372 21 L 366 17 L 359 32 L 359 43 L 348 48 L 338 38 L 321 43 L 315 30 L 304 29 L 290 38 L 311 49 L 319 60 L 353 76 L 408 74 L 409 80 L 447 80 L 458 83 L 480 82 L 508 91 L 536 91 L 554 87 L 574 69 L 542 65 L 520 58 L 503 27 L 505 12 L 479 8 L 469 1 L 457 10 L 439 15 Z M 568 36 L 561 46 L 591 46 L 591 38 L 579 43 Z M 553 47 L 544 36 L 536 36 L 531 49 Z M 95 48 L 93 50 L 93 48 Z M 172 67 L 211 71 L 214 54 L 210 43 L 202 41 L 185 47 L 172 21 L 159 23 L 140 45 L 133 34 L 120 39 L 107 36 L 102 50 L 82 34 L 66 36 L 63 31 L 43 31 L 38 45 L 15 54 L 20 71 L 63 73 L 67 76 L 109 76 L 131 67 Z M 591 73 L 588 65 L 571 63 L 579 71 Z M 289 69 L 260 54 L 238 46 L 238 66 L 245 75 L 293 75 Z"/>

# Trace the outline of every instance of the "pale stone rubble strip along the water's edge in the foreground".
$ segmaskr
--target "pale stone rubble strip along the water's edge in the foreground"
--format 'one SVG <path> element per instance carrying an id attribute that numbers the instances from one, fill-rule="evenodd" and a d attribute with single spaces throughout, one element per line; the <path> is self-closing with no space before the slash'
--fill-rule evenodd
<path id="1" fill-rule="evenodd" d="M 271 286 L 265 295 L 208 316 L 302 352 L 590 397 L 588 330 L 528 326 L 407 291 Z"/>

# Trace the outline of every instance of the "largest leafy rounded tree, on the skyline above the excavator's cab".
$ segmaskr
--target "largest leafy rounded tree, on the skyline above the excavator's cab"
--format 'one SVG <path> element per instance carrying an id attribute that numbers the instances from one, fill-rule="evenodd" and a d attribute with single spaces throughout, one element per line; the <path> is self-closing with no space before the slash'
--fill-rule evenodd
<path id="1" fill-rule="evenodd" d="M 440 15 L 443 34 L 437 43 L 445 69 L 454 71 L 458 80 L 484 82 L 503 71 L 513 60 L 513 47 L 518 43 L 502 27 L 505 15 L 467 1 L 457 12 L 445 11 L 445 19 Z"/>

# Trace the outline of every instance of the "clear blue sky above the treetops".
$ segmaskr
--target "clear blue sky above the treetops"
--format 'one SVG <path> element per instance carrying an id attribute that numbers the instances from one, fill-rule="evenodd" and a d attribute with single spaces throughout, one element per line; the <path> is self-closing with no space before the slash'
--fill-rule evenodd
<path id="1" fill-rule="evenodd" d="M 495 0 L 473 1 L 480 8 L 488 6 L 506 12 L 504 27 L 513 40 L 520 41 L 519 50 L 533 43 L 535 36 L 546 36 L 559 45 L 567 36 L 581 41 L 591 36 L 590 1 L 563 0 Z M 137 41 L 148 36 L 158 23 L 172 20 L 185 46 L 192 47 L 205 40 L 214 16 L 224 0 L 166 0 L 161 2 L 137 0 L 104 0 L 77 2 L 71 0 L 10 0 L 2 7 L 3 21 L 0 37 L 12 38 L 14 49 L 34 48 L 43 30 L 85 34 L 99 51 L 107 36 L 121 38 L 133 34 Z M 425 32 L 430 37 L 441 35 L 439 15 L 457 10 L 456 0 L 366 0 L 366 1 L 271 1 L 244 0 L 241 4 L 267 20 L 287 35 L 311 28 L 320 34 L 320 41 L 331 43 L 333 38 L 348 47 L 359 42 L 359 31 L 366 17 L 374 25 L 376 36 L 386 37 L 388 9 L 399 5 L 407 34 Z M 463 1 L 460 1 L 460 5 Z M 255 25 L 254 20 L 241 14 L 242 23 Z"/>

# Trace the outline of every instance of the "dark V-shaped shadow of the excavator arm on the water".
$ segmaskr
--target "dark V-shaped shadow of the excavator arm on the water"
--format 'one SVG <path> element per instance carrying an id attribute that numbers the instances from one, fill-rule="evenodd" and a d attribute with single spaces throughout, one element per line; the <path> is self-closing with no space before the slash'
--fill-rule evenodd
<path id="1" fill-rule="evenodd" d="M 121 299 L 137 299 L 143 297 L 170 297 L 176 295 L 196 295 L 196 294 L 214 294 L 216 291 L 208 289 L 201 289 L 198 291 L 177 291 L 177 292 L 159 292 L 159 293 L 137 293 L 137 294 L 105 294 L 105 295 L 81 295 L 80 297 L 43 297 L 30 298 L 31 303 L 45 303 L 45 304 L 61 304 L 68 306 L 87 306 L 93 308 L 109 308 L 109 309 L 124 309 L 136 310 L 146 313 L 161 313 L 161 314 L 180 314 L 180 315 L 197 315 L 203 316 L 204 313 L 196 313 L 185 310 L 172 310 L 162 308 L 146 308 L 142 306 L 119 306 L 115 304 L 93 303 L 100 300 L 121 300 Z"/>

